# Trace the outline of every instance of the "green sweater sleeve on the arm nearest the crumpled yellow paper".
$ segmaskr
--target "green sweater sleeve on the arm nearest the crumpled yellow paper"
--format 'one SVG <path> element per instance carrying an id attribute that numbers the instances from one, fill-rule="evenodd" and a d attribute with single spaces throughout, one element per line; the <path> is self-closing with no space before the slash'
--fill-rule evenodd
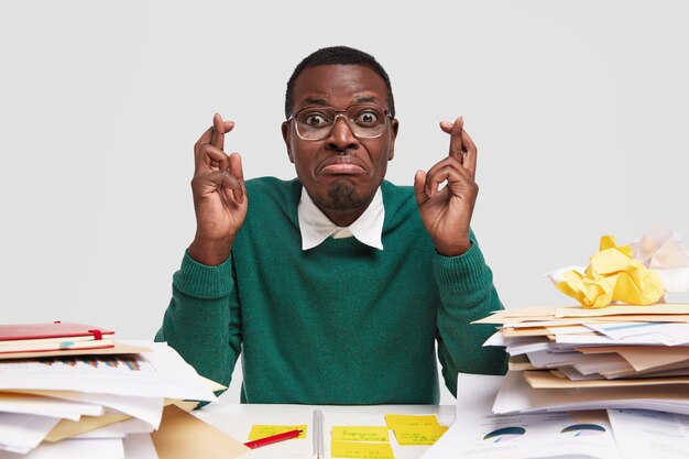
<path id="1" fill-rule="evenodd" d="M 491 325 L 471 325 L 502 309 L 493 273 L 471 234 L 471 248 L 459 256 L 437 254 L 434 275 L 441 304 L 438 307 L 438 359 L 450 393 L 457 396 L 457 374 L 504 374 L 504 349 L 482 347 L 495 331 Z"/>

